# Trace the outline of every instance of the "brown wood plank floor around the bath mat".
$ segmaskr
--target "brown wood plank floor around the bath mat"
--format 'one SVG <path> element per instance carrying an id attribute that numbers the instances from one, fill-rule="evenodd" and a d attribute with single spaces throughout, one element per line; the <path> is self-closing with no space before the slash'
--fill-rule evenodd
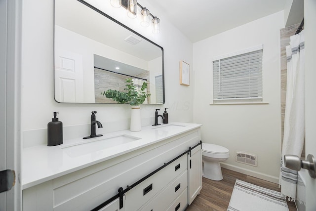
<path id="1" fill-rule="evenodd" d="M 223 180 L 213 181 L 203 177 L 203 188 L 186 211 L 226 211 L 236 179 L 271 190 L 280 191 L 278 184 L 248 176 L 229 169 L 222 169 Z M 288 202 L 290 211 L 297 211 L 294 202 Z"/>

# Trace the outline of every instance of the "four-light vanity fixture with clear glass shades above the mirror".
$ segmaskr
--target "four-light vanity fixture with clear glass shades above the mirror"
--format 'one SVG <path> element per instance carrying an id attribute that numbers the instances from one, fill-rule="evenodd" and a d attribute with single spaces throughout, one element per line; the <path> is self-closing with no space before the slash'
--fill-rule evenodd
<path id="1" fill-rule="evenodd" d="M 130 18 L 136 18 L 137 17 L 137 6 L 141 8 L 140 14 L 141 14 L 141 26 L 148 27 L 150 25 L 150 17 L 152 17 L 152 23 L 153 23 L 153 30 L 152 32 L 154 34 L 158 34 L 160 32 L 160 19 L 157 16 L 154 16 L 149 12 L 149 10 L 146 7 L 143 7 L 139 3 L 137 3 L 137 0 L 110 0 L 110 3 L 113 7 L 124 7 L 127 10 L 127 16 Z M 118 6 L 119 4 L 119 6 Z"/>

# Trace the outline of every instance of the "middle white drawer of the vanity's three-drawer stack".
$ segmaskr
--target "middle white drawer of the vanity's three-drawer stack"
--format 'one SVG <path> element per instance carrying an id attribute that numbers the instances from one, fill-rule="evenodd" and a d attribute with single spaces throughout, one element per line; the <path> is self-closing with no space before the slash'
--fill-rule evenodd
<path id="1" fill-rule="evenodd" d="M 149 201 L 141 211 L 162 211 L 188 186 L 188 171 L 184 171 L 176 180 L 165 187 L 153 200 Z"/>

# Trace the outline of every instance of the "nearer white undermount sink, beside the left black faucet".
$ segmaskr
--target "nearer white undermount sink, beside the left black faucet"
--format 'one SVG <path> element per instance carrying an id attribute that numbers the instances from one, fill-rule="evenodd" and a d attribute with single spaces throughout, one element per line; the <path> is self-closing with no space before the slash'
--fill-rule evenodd
<path id="1" fill-rule="evenodd" d="M 101 136 L 92 138 L 90 140 L 85 139 L 75 144 L 68 144 L 61 146 L 62 150 L 66 152 L 70 157 L 78 157 L 85 154 L 90 154 L 100 150 L 104 150 L 110 147 L 126 144 L 132 141 L 139 140 L 139 137 L 120 134 L 115 136 Z"/>

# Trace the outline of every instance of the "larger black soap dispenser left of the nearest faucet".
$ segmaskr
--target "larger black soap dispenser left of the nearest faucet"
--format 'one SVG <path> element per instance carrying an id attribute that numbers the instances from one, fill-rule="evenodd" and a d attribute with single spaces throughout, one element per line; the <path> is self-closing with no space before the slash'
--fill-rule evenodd
<path id="1" fill-rule="evenodd" d="M 63 123 L 58 121 L 58 112 L 54 112 L 54 118 L 47 124 L 47 146 L 56 146 L 63 143 Z"/>

